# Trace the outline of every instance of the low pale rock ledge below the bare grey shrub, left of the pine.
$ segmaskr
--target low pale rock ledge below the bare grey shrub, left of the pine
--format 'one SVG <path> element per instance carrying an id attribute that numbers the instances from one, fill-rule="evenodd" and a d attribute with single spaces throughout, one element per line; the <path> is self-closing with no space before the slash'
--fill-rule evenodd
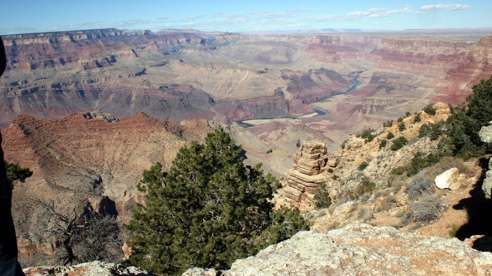
<path id="1" fill-rule="evenodd" d="M 155 276 L 137 267 L 93 261 L 75 266 L 30 267 L 24 269 L 26 276 Z"/>

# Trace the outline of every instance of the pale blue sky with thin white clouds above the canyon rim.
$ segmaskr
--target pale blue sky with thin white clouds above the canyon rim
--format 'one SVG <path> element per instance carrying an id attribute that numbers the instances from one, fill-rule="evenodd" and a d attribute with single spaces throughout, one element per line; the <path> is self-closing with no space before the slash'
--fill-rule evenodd
<path id="1" fill-rule="evenodd" d="M 492 0 L 0 0 L 0 34 L 492 27 Z"/>

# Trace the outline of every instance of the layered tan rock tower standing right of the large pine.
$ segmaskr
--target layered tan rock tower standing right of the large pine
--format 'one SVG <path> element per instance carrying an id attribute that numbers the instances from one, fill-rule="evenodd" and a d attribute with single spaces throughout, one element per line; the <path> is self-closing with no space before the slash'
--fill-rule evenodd
<path id="1" fill-rule="evenodd" d="M 326 145 L 323 142 L 305 142 L 294 155 L 294 167 L 287 176 L 287 186 L 282 188 L 292 206 L 306 211 L 313 208 L 314 188 L 326 182 L 329 168 Z"/>

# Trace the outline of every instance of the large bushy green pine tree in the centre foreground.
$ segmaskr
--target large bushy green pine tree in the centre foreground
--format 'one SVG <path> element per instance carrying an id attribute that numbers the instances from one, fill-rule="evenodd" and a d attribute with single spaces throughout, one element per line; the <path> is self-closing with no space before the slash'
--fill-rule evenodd
<path id="1" fill-rule="evenodd" d="M 129 262 L 157 273 L 225 269 L 238 258 L 290 238 L 308 224 L 298 211 L 272 211 L 279 184 L 261 165 L 243 164 L 242 148 L 222 128 L 182 147 L 169 172 L 157 163 L 138 187 L 147 192 L 128 229 Z"/>

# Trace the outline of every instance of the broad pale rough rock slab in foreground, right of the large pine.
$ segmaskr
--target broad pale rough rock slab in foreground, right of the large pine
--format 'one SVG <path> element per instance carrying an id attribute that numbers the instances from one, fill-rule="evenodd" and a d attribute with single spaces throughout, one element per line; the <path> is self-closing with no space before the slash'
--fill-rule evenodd
<path id="1" fill-rule="evenodd" d="M 194 270 L 199 272 L 200 270 Z M 185 275 L 210 275 L 209 274 Z M 424 237 L 393 227 L 352 223 L 326 233 L 303 231 L 237 260 L 244 275 L 490 275 L 492 253 L 456 238 Z"/>

